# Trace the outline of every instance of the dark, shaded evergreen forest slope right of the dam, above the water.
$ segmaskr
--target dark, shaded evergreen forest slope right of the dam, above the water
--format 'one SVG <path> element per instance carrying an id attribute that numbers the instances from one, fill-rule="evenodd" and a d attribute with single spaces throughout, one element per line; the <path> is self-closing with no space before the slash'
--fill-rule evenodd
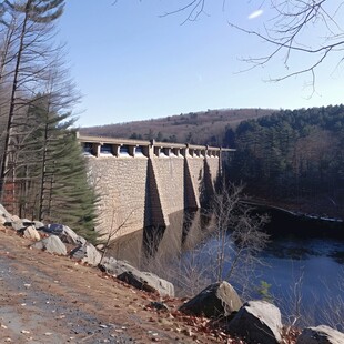
<path id="1" fill-rule="evenodd" d="M 344 191 L 344 105 L 281 110 L 227 128 L 236 148 L 230 179 L 270 199 L 326 201 L 341 211 Z"/>

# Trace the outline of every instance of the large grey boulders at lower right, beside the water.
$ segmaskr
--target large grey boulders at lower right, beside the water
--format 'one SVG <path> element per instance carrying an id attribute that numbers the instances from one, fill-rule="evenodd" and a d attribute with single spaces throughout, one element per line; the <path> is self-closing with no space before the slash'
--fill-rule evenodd
<path id="1" fill-rule="evenodd" d="M 240 343 L 344 344 L 343 333 L 324 325 L 304 328 L 296 342 L 285 342 L 280 310 L 266 301 L 242 304 L 233 286 L 226 282 L 208 286 L 179 310 L 185 314 L 224 320 L 227 333 L 244 338 Z"/>

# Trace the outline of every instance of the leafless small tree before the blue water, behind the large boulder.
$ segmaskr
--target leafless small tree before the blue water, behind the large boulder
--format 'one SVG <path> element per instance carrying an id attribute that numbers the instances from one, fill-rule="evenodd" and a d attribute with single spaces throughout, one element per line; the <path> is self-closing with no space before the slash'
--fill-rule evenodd
<path id="1" fill-rule="evenodd" d="M 230 184 L 214 198 L 216 241 L 211 254 L 215 259 L 214 279 L 241 285 L 242 293 L 249 289 L 256 265 L 263 264 L 259 254 L 269 242 L 269 234 L 263 231 L 269 219 L 241 203 L 243 188 Z"/>

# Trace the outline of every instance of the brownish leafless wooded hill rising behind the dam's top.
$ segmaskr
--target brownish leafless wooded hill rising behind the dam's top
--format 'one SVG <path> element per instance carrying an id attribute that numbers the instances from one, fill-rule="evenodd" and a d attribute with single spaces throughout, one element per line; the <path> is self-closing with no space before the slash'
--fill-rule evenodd
<path id="1" fill-rule="evenodd" d="M 135 121 L 101 127 L 81 128 L 82 134 L 180 142 L 193 144 L 223 145 L 227 125 L 235 128 L 247 119 L 275 112 L 271 109 L 222 109 L 190 112 L 156 120 Z"/>

